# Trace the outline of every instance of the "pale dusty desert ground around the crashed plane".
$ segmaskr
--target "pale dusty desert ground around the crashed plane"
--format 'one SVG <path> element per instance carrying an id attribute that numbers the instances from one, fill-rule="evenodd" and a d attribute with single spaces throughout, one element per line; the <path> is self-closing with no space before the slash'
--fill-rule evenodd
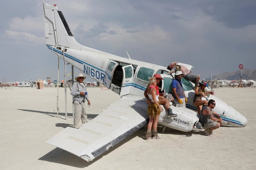
<path id="1" fill-rule="evenodd" d="M 167 128 L 159 134 L 162 139 L 149 141 L 142 138 L 146 129 L 140 129 L 92 162 L 86 162 L 45 143 L 73 124 L 69 89 L 65 120 L 64 88 L 59 92 L 59 117 L 57 88 L 1 88 L 0 169 L 256 169 L 256 88 L 214 90 L 215 96 L 247 118 L 247 126 L 220 127 L 213 137 L 205 136 L 203 130 L 181 132 Z M 119 99 L 110 90 L 88 88 L 88 92 L 92 103 L 87 108 L 89 119 Z"/>

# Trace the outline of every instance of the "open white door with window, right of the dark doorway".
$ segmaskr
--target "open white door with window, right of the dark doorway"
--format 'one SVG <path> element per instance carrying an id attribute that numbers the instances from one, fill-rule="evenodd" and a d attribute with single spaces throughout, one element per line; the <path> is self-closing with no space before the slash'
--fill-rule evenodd
<path id="1" fill-rule="evenodd" d="M 123 81 L 120 90 L 120 96 L 128 95 L 132 88 L 133 67 L 132 65 L 123 66 Z"/>

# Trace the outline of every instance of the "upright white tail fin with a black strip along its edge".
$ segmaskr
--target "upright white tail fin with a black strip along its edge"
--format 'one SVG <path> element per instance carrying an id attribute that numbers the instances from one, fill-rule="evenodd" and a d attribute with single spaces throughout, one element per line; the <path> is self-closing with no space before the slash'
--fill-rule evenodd
<path id="1" fill-rule="evenodd" d="M 82 45 L 73 37 L 68 23 L 57 5 L 44 3 L 44 34 L 46 45 L 80 50 Z"/>

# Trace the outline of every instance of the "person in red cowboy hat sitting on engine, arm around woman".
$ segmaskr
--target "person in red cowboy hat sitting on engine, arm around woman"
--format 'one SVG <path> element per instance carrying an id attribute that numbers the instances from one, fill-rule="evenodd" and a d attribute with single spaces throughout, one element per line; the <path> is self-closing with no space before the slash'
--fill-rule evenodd
<path id="1" fill-rule="evenodd" d="M 158 85 L 159 85 L 159 82 L 160 82 L 161 80 L 163 80 L 163 78 L 161 77 L 160 74 L 154 74 L 153 77 L 156 78 L 156 82 L 157 82 L 156 93 L 159 94 L 159 87 L 158 87 Z M 149 84 L 148 84 L 146 90 L 144 91 L 144 96 L 145 96 L 145 98 L 147 99 L 146 102 L 147 102 L 148 104 L 151 104 L 152 101 L 149 99 L 148 94 L 147 94 L 147 93 L 148 93 L 148 87 L 149 87 Z M 161 95 L 163 95 L 163 94 L 159 94 L 159 101 L 160 101 L 161 104 L 164 105 L 164 109 L 167 110 L 167 113 L 168 113 L 167 117 L 177 117 L 177 116 L 178 116 L 177 114 L 173 114 L 173 113 L 172 113 L 172 109 L 170 108 L 170 102 L 169 102 L 169 100 L 165 99 L 165 98 L 164 98 L 163 96 L 161 96 Z"/>

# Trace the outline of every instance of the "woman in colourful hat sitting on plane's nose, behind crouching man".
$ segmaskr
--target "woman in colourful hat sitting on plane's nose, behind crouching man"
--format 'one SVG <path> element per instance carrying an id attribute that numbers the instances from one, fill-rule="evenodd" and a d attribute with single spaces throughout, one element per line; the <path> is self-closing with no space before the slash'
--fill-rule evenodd
<path id="1" fill-rule="evenodd" d="M 206 95 L 210 94 L 210 92 L 205 92 L 204 88 L 206 87 L 207 82 L 206 81 L 201 81 L 199 83 L 199 86 L 196 87 L 195 90 L 195 96 L 194 96 L 194 105 L 197 107 L 197 114 L 200 114 L 200 111 L 202 110 L 203 105 L 207 105 L 206 100 L 202 100 L 202 97 L 205 97 Z"/>

